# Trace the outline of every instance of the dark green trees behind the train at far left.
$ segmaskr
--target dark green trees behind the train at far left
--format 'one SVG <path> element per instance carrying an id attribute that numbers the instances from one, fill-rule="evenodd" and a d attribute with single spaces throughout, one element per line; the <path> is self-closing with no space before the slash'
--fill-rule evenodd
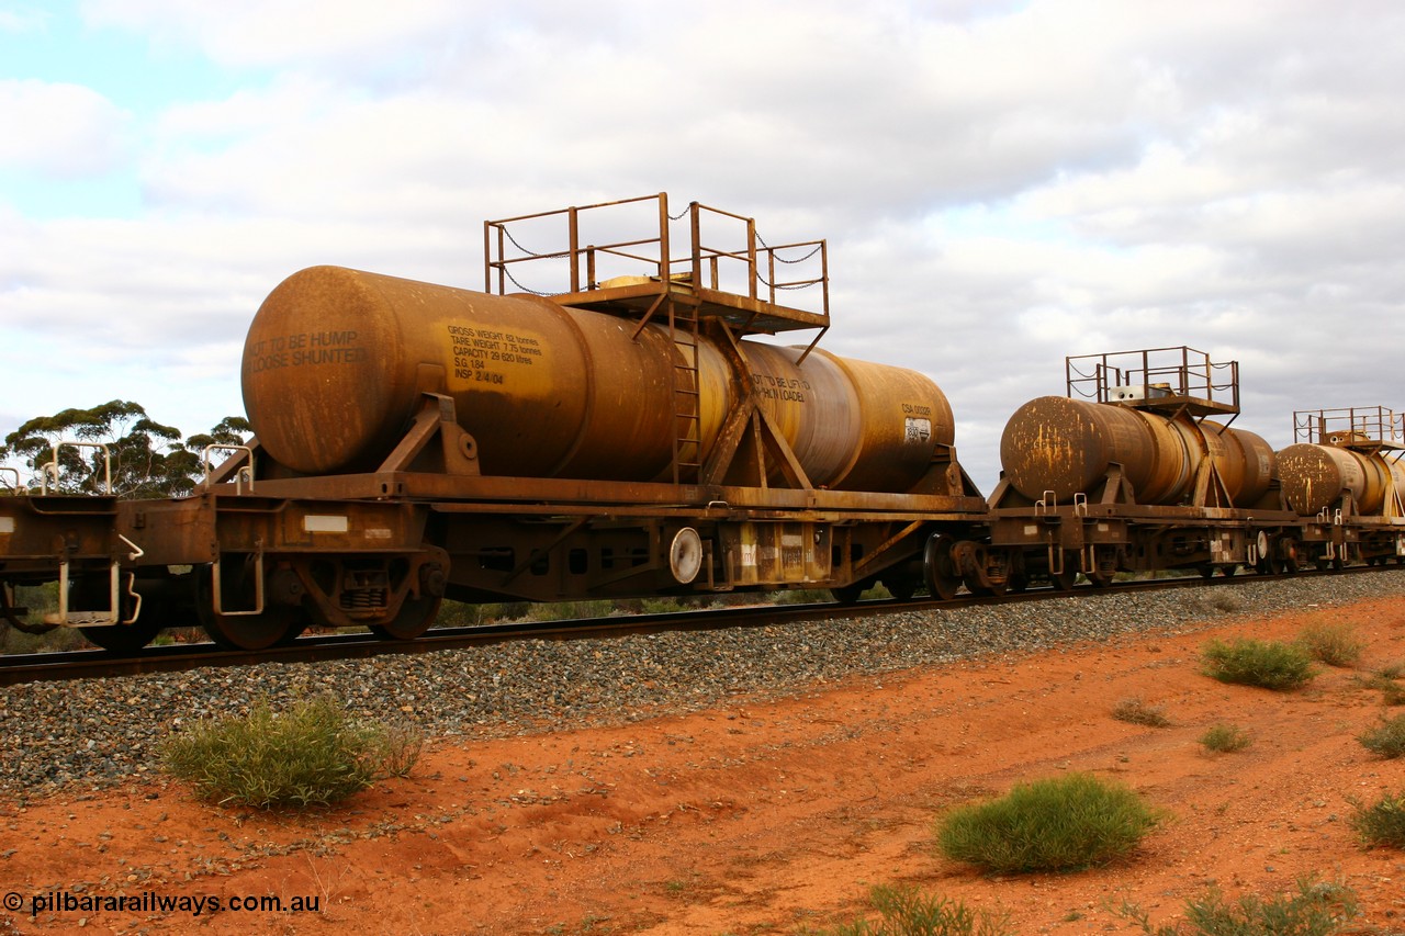
<path id="1" fill-rule="evenodd" d="M 183 437 L 174 426 L 148 416 L 140 403 L 114 399 L 28 420 L 4 437 L 0 464 L 14 467 L 24 488 L 44 482 L 51 492 L 93 495 L 105 493 L 110 462 L 111 493 L 118 498 L 171 498 L 191 493 L 204 478 L 207 446 L 239 446 L 249 433 L 247 419 L 226 416 L 208 433 Z M 60 446 L 55 472 L 46 465 L 55 462 L 53 446 L 60 441 L 84 446 Z M 104 446 L 107 455 L 96 446 Z M 0 495 L 11 481 L 8 472 L 0 475 Z"/>

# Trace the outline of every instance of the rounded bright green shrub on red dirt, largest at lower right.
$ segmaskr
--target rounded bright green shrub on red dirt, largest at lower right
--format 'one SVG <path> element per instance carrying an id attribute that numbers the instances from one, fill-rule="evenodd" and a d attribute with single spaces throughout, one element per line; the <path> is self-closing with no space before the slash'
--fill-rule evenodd
<path id="1" fill-rule="evenodd" d="M 951 811 L 937 847 L 992 871 L 1075 870 L 1128 854 L 1161 819 L 1132 790 L 1072 773 Z"/>

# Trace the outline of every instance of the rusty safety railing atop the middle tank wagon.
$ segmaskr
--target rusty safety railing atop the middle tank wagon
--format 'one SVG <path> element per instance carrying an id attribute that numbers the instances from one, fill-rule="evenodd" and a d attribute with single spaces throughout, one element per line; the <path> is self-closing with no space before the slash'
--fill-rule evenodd
<path id="1" fill-rule="evenodd" d="M 1069 396 L 1099 403 L 1191 399 L 1239 412 L 1239 363 L 1186 346 L 1066 357 L 1064 379 Z"/>

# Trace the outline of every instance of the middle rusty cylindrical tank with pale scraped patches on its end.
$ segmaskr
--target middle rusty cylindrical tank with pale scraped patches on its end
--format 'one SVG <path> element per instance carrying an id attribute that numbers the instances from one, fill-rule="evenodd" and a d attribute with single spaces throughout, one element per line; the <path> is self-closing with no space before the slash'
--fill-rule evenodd
<path id="1" fill-rule="evenodd" d="M 1000 437 L 1005 475 L 1031 500 L 1048 490 L 1066 503 L 1121 464 L 1137 503 L 1182 503 L 1205 460 L 1235 506 L 1256 502 L 1273 478 L 1273 450 L 1255 433 L 1111 403 L 1041 396 L 1014 410 Z"/>

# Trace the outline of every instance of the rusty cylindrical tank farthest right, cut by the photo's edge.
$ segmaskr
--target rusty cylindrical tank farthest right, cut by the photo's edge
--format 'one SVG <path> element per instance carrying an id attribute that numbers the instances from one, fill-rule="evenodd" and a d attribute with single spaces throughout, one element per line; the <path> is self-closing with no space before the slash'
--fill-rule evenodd
<path id="1" fill-rule="evenodd" d="M 1405 465 L 1380 454 L 1335 446 L 1298 444 L 1279 453 L 1279 476 L 1288 506 L 1315 516 L 1350 493 L 1357 514 L 1380 514 L 1391 492 L 1405 492 Z"/>

